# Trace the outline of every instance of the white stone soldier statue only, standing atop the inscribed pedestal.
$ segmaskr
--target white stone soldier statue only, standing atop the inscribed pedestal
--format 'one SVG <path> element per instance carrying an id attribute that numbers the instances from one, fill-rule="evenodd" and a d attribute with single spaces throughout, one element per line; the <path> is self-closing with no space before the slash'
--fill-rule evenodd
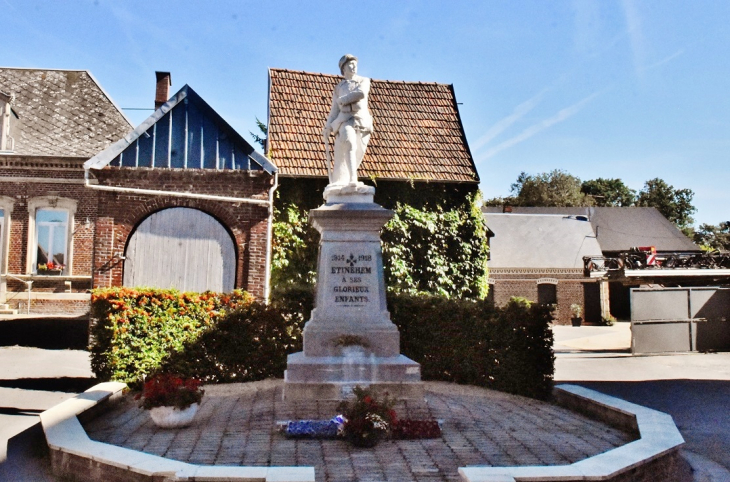
<path id="1" fill-rule="evenodd" d="M 348 187 L 358 190 L 364 184 L 357 180 L 357 169 L 373 132 L 373 118 L 368 110 L 370 79 L 357 75 L 357 57 L 350 54 L 340 59 L 340 72 L 345 79 L 335 87 L 332 108 L 322 130 L 328 153 L 328 188 Z M 335 152 L 333 169 L 329 171 L 329 138 L 333 133 Z"/>

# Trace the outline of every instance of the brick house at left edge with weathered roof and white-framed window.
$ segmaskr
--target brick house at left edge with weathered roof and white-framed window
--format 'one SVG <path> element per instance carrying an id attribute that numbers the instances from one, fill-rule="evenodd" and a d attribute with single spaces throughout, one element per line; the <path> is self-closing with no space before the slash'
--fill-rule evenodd
<path id="1" fill-rule="evenodd" d="M 85 312 L 98 206 L 83 163 L 132 125 L 83 70 L 0 68 L 0 113 L 0 304 Z"/>

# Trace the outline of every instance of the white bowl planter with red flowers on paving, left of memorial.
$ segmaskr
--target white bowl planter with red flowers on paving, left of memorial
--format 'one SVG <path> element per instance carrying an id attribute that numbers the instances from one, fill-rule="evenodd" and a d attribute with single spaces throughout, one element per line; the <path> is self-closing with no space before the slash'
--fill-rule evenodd
<path id="1" fill-rule="evenodd" d="M 167 373 L 155 375 L 145 382 L 140 407 L 150 411 L 158 427 L 179 428 L 190 425 L 198 411 L 204 390 L 194 378 L 180 378 Z"/>

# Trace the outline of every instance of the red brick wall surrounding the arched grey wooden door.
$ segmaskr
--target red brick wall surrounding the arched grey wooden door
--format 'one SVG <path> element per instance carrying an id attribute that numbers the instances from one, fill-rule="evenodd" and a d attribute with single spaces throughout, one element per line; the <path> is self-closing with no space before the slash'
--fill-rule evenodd
<path id="1" fill-rule="evenodd" d="M 94 171 L 99 184 L 138 189 L 194 192 L 266 200 L 273 178 L 257 171 L 203 171 L 183 169 L 106 168 Z M 121 286 L 123 254 L 129 236 L 150 214 L 172 207 L 199 209 L 217 218 L 233 235 L 236 245 L 237 288 L 262 298 L 266 279 L 268 208 L 254 204 L 95 191 L 99 196 L 96 222 L 95 286 Z"/>

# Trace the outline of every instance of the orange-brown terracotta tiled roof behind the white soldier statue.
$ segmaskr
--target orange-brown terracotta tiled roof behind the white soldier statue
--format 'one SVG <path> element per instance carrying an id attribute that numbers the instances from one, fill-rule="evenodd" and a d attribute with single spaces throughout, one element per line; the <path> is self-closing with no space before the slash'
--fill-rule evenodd
<path id="1" fill-rule="evenodd" d="M 269 69 L 270 157 L 282 175 L 327 176 L 322 127 L 342 77 Z M 479 182 L 450 85 L 372 80 L 374 132 L 360 177 Z"/>

